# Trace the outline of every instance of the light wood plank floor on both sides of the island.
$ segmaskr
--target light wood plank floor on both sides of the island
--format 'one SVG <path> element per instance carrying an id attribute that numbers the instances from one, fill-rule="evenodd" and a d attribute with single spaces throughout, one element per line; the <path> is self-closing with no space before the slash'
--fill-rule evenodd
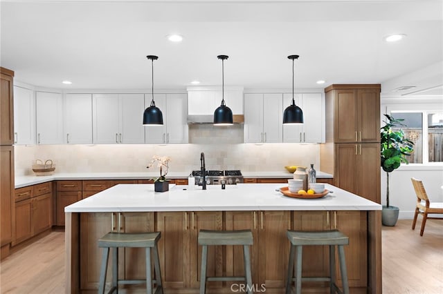
<path id="1" fill-rule="evenodd" d="M 383 293 L 443 293 L 443 220 L 429 219 L 420 237 L 410 220 L 383 226 Z M 53 232 L 4 259 L 0 293 L 64 293 L 64 233 Z"/>

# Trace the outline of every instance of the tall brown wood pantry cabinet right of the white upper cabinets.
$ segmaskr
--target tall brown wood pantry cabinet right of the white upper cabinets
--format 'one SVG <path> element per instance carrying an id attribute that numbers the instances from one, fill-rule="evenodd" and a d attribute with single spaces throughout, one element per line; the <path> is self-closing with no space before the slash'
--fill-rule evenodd
<path id="1" fill-rule="evenodd" d="M 380 85 L 331 85 L 325 93 L 320 169 L 334 174 L 335 186 L 381 203 Z"/>

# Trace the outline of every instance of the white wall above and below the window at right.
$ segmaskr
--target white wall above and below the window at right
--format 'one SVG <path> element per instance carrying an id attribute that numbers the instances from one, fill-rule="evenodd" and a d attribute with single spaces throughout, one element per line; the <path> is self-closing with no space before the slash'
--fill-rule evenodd
<path id="1" fill-rule="evenodd" d="M 403 77 L 383 82 L 381 85 L 381 115 L 390 113 L 391 110 L 443 111 L 443 96 L 440 92 L 433 92 L 433 95 L 427 96 L 400 95 L 400 93 L 391 92 L 397 86 L 417 85 L 417 89 L 431 89 L 436 85 L 441 85 L 442 64 L 440 61 L 416 72 L 410 72 Z M 381 126 L 384 126 L 383 122 Z M 400 219 L 412 219 L 414 215 L 417 198 L 410 181 L 411 177 L 423 181 L 426 193 L 432 202 L 443 202 L 443 162 L 426 165 L 402 165 L 390 175 L 390 205 L 400 208 Z M 381 170 L 381 200 L 382 204 L 386 204 L 386 173 L 383 170 Z"/>

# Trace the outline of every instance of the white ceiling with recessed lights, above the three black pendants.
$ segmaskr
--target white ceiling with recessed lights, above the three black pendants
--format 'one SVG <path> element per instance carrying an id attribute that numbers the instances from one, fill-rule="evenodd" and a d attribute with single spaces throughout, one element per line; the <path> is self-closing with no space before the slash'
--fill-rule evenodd
<path id="1" fill-rule="evenodd" d="M 441 0 L 2 0 L 1 66 L 56 89 L 246 89 L 383 83 L 443 60 Z M 183 35 L 181 43 L 166 39 Z M 392 33 L 406 38 L 387 43 Z M 326 84 L 316 81 L 324 79 Z M 63 80 L 72 81 L 64 85 Z M 442 83 L 443 84 L 443 83 Z M 410 86 L 410 85 L 401 85 Z"/>

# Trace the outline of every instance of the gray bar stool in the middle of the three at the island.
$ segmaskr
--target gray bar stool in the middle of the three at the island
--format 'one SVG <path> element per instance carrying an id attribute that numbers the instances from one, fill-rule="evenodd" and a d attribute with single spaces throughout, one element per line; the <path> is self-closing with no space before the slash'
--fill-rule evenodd
<path id="1" fill-rule="evenodd" d="M 206 293 L 206 281 L 246 281 L 246 290 L 252 294 L 251 257 L 249 246 L 253 244 L 251 230 L 241 231 L 199 231 L 199 244 L 203 246 L 201 253 L 200 294 Z M 241 277 L 208 277 L 206 266 L 208 262 L 208 246 L 210 245 L 243 245 L 245 275 Z"/>

